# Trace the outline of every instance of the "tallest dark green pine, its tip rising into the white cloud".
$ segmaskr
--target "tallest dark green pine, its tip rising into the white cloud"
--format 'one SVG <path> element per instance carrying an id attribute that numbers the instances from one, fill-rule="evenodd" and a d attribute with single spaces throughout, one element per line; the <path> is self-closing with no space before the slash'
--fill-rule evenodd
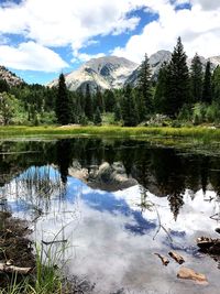
<path id="1" fill-rule="evenodd" d="M 182 39 L 178 37 L 177 45 L 172 54 L 172 61 L 167 67 L 166 115 L 176 117 L 184 104 L 189 102 L 189 97 L 187 56 L 184 52 Z"/>

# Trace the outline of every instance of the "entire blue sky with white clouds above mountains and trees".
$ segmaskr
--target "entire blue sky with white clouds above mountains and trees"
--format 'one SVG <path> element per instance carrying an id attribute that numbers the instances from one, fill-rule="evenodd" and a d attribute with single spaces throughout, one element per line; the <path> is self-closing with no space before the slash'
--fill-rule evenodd
<path id="1" fill-rule="evenodd" d="M 0 64 L 28 83 L 46 84 L 92 57 L 140 63 L 144 53 L 172 51 L 179 35 L 190 57 L 219 55 L 217 2 L 0 0 Z"/>

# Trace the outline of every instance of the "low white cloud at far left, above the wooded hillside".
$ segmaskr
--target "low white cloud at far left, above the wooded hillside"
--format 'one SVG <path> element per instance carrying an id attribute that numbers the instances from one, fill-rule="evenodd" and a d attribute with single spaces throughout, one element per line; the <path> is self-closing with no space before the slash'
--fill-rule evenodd
<path id="1" fill-rule="evenodd" d="M 18 47 L 0 45 L 0 64 L 15 69 L 58 72 L 67 67 L 58 54 L 34 42 Z"/>

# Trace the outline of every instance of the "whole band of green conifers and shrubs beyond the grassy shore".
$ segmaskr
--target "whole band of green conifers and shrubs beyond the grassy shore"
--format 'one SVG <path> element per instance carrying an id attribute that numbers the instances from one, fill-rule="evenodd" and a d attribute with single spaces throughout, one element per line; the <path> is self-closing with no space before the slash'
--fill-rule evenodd
<path id="1" fill-rule="evenodd" d="M 0 122 L 48 124 L 121 124 L 185 122 L 199 124 L 220 120 L 220 66 L 202 64 L 198 54 L 187 65 L 180 37 L 172 58 L 164 63 L 156 80 L 152 78 L 147 55 L 138 68 L 134 85 L 123 89 L 99 87 L 69 91 L 64 74 L 57 87 L 20 85 L 9 87 L 0 80 Z"/>

